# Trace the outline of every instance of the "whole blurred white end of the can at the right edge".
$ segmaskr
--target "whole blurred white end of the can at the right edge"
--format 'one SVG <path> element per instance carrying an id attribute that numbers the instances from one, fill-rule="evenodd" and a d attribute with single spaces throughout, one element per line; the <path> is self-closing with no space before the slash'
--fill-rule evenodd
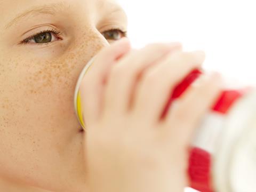
<path id="1" fill-rule="evenodd" d="M 213 159 L 216 191 L 256 189 L 256 90 L 239 99 L 223 127 Z"/>

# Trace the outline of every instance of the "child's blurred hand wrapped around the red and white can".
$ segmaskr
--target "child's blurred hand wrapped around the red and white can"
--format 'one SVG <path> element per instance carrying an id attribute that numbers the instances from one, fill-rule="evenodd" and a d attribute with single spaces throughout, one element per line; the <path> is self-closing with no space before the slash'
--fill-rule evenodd
<path id="1" fill-rule="evenodd" d="M 203 61 L 203 52 L 178 43 L 131 50 L 124 38 L 100 51 L 80 88 L 90 191 L 183 191 L 187 149 L 220 78 L 202 75 L 159 116 L 170 89 Z"/>

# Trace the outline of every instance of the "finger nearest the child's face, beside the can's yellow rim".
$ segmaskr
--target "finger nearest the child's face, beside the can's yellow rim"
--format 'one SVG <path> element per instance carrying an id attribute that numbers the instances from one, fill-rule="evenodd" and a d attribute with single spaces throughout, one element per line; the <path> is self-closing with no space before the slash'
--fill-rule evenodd
<path id="1" fill-rule="evenodd" d="M 95 57 L 90 70 L 84 76 L 81 86 L 81 102 L 84 121 L 96 121 L 100 117 L 102 108 L 103 81 L 111 65 L 130 50 L 129 39 L 123 38 L 112 45 L 102 49 Z"/>

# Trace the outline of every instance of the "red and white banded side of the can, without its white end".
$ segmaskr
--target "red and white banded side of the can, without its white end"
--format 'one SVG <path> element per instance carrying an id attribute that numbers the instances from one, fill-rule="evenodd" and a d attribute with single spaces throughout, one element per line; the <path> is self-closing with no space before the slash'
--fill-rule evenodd
<path id="1" fill-rule="evenodd" d="M 198 69 L 191 73 L 170 93 L 170 99 L 163 110 L 161 118 L 165 116 L 173 100 L 187 89 L 187 87 L 198 78 L 202 72 Z M 228 115 L 229 109 L 241 98 L 247 90 L 224 90 L 220 94 L 217 102 L 214 103 L 209 114 L 206 114 L 201 127 L 192 143 L 189 156 L 189 185 L 203 192 L 213 191 L 211 182 L 212 155 L 214 153 L 214 141 L 223 128 L 223 122 Z"/>

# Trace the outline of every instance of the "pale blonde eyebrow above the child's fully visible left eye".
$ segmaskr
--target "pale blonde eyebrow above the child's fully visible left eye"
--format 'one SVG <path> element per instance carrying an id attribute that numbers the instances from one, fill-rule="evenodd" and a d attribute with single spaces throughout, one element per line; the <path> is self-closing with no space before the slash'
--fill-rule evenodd
<path id="1" fill-rule="evenodd" d="M 55 3 L 55 4 L 47 4 L 47 5 L 31 7 L 25 12 L 18 14 L 14 19 L 12 19 L 9 23 L 7 23 L 7 25 L 5 26 L 5 29 L 15 25 L 15 23 L 18 23 L 19 20 L 27 17 L 28 15 L 30 16 L 41 15 L 41 14 L 54 15 L 56 12 L 65 8 L 66 6 L 63 3 Z"/>

